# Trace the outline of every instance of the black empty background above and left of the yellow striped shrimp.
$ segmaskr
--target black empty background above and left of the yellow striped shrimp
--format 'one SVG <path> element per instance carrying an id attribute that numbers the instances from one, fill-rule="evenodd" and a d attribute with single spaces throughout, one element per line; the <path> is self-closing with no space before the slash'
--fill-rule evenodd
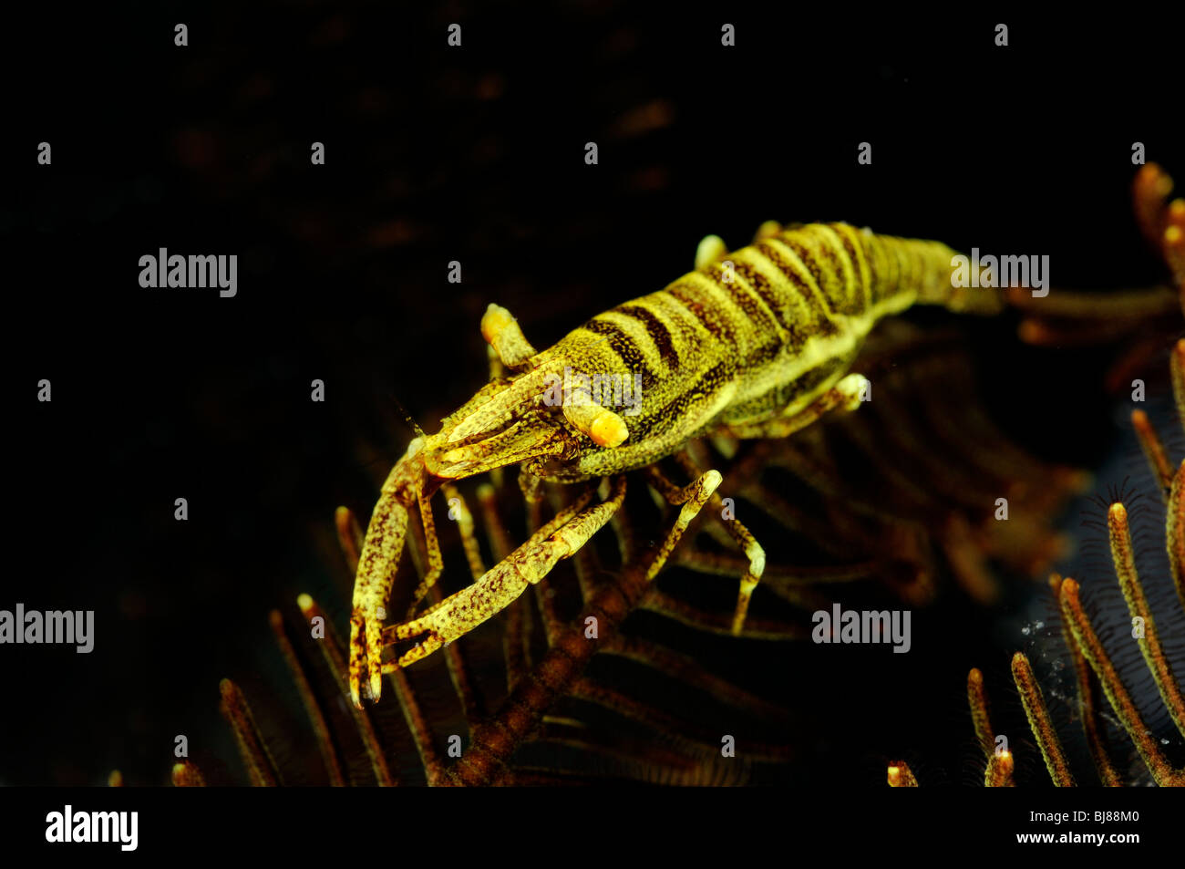
<path id="1" fill-rule="evenodd" d="M 1130 153 L 1185 173 L 1181 46 L 1139 14 L 306 2 L 11 20 L 0 606 L 95 609 L 97 639 L 0 652 L 0 781 L 162 784 L 180 733 L 237 777 L 218 679 L 274 680 L 265 614 L 299 592 L 344 624 L 350 577 L 321 557 L 333 509 L 365 515 L 402 453 L 392 396 L 430 430 L 481 383 L 488 301 L 545 346 L 690 269 L 704 235 L 736 247 L 770 218 L 1048 254 L 1058 286 L 1157 279 Z M 671 122 L 628 135 L 655 102 Z M 160 247 L 237 254 L 237 298 L 142 289 Z M 1024 347 L 1014 327 L 968 326 L 997 417 L 1097 464 L 1106 354 Z M 1095 424 L 1059 429 L 1070 415 Z M 899 746 L 962 756 L 966 670 L 1006 677 L 1012 647 L 975 618 L 933 628 L 947 651 L 903 656 L 880 695 L 802 675 L 835 710 L 807 780 L 880 784 Z"/>

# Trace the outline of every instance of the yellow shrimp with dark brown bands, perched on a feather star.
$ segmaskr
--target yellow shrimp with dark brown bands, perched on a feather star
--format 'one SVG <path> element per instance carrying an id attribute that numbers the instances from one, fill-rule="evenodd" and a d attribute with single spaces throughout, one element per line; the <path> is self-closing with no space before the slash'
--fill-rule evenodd
<path id="1" fill-rule="evenodd" d="M 383 672 L 463 635 L 576 552 L 621 505 L 623 472 L 652 466 L 694 437 L 784 436 L 831 409 L 854 409 L 866 381 L 848 368 L 883 317 L 914 303 L 999 311 L 994 290 L 953 286 L 954 256 L 937 242 L 841 223 L 763 224 L 754 244 L 732 253 L 709 236 L 694 271 L 594 317 L 543 352 L 505 308 L 491 305 L 482 336 L 510 376 L 494 377 L 437 434 L 411 442 L 371 517 L 350 632 L 356 705 L 365 675 L 377 699 Z M 595 500 L 587 492 L 472 586 L 384 631 L 412 504 L 429 547 L 418 602 L 441 571 L 430 494 L 506 465 L 559 481 L 609 478 L 608 496 Z M 649 577 L 722 481 L 707 471 L 679 488 L 652 471 L 654 485 L 681 510 Z M 724 524 L 749 558 L 732 622 L 739 633 L 764 554 L 743 525 Z M 382 662 L 385 645 L 414 639 L 419 643 L 410 651 Z"/>

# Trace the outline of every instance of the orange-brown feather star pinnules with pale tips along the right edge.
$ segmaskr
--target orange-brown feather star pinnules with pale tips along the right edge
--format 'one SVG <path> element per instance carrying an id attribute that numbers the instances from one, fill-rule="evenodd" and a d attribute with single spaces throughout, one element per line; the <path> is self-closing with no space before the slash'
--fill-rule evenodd
<path id="1" fill-rule="evenodd" d="M 1179 333 L 1180 330 L 1180 309 L 1185 309 L 1185 200 L 1170 202 L 1171 193 L 1172 180 L 1160 167 L 1149 164 L 1136 174 L 1133 184 L 1136 219 L 1146 239 L 1168 268 L 1173 287 L 1107 296 L 1061 293 L 1051 295 L 1050 300 L 1040 300 L 1039 303 L 1018 292 L 1010 296 L 1012 303 L 1026 314 L 1020 334 L 1031 343 L 1062 344 L 1127 338 L 1127 350 L 1107 377 L 1109 391 L 1129 382 L 1132 373 L 1153 353 L 1164 352 L 1166 331 Z M 1185 428 L 1185 340 L 1178 339 L 1172 346 L 1170 372 L 1176 416 Z M 1166 638 L 1162 630 L 1167 624 L 1171 626 L 1170 634 L 1179 634 L 1180 625 L 1185 624 L 1185 461 L 1174 469 L 1171 445 L 1160 439 L 1146 411 L 1132 411 L 1130 424 L 1152 472 L 1157 492 L 1153 498 L 1161 500 L 1165 507 L 1162 538 L 1145 541 L 1136 535 L 1133 539 L 1133 510 L 1141 511 L 1144 516 L 1148 512 L 1145 510 L 1147 504 L 1141 503 L 1144 493 L 1129 490 L 1126 481 L 1123 487 L 1113 488 L 1107 498 L 1096 499 L 1106 518 L 1083 523 L 1097 528 L 1107 536 L 1110 570 L 1122 593 L 1127 621 L 1120 620 L 1117 625 L 1109 624 L 1104 630 L 1100 628 L 1098 622 L 1103 619 L 1088 614 L 1082 588 L 1072 579 L 1053 574 L 1050 590 L 1055 618 L 1059 616 L 1062 621 L 1062 641 L 1069 650 L 1072 663 L 1074 711 L 1081 718 L 1098 782 L 1109 787 L 1139 784 L 1139 777 L 1129 774 L 1126 765 L 1116 760 L 1121 752 L 1110 745 L 1108 730 L 1117 729 L 1130 740 L 1153 782 L 1160 786 L 1185 786 L 1185 766 L 1171 758 L 1171 740 L 1165 736 L 1158 739 L 1151 723 L 1159 704 L 1165 717 L 1185 739 L 1185 701 L 1179 676 L 1180 648 L 1176 647 L 1174 665 L 1174 638 Z M 1155 570 L 1145 570 L 1142 575 L 1138 571 L 1140 545 L 1145 542 L 1148 545 L 1162 545 L 1167 551 L 1167 573 L 1176 587 L 1176 600 L 1167 593 L 1166 576 L 1158 575 Z M 1157 609 L 1162 616 L 1160 626 L 1154 615 Z M 1133 650 L 1138 650 L 1144 660 L 1155 688 L 1154 695 L 1145 692 L 1141 696 L 1132 688 L 1140 682 L 1139 673 L 1126 667 L 1126 663 L 1134 658 Z M 1061 663 L 1061 658 L 1055 658 L 1055 665 Z M 1029 657 L 1017 652 L 1011 669 L 1029 729 L 1050 778 L 1058 786 L 1076 785 L 1078 779 L 1070 768 L 1068 752 Z M 1014 784 L 1014 758 L 1007 748 L 1007 741 L 992 726 L 984 676 L 978 669 L 973 669 L 968 676 L 967 695 L 976 741 L 986 756 L 984 782 L 987 786 L 1011 786 Z M 1110 714 L 1104 709 L 1101 697 L 1107 698 Z M 1108 724 L 1115 727 L 1108 728 Z M 908 771 L 899 761 L 889 767 L 891 786 L 916 784 L 912 773 L 905 775 L 903 768 Z"/>

